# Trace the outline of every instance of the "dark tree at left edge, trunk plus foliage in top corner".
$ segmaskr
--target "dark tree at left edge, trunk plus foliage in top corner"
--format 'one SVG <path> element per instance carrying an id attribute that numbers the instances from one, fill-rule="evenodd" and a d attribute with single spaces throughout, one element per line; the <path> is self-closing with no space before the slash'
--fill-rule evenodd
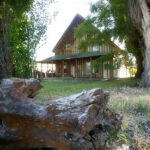
<path id="1" fill-rule="evenodd" d="M 8 46 L 8 27 L 14 16 L 29 10 L 32 0 L 0 1 L 0 79 L 12 75 L 11 54 Z"/>

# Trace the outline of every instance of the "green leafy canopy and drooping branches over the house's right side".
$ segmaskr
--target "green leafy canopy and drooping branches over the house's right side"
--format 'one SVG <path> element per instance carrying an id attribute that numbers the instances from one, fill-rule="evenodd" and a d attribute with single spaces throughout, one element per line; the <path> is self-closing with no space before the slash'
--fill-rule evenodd
<path id="1" fill-rule="evenodd" d="M 120 52 L 123 57 L 119 57 L 117 51 L 110 52 L 99 58 L 94 66 L 101 66 L 100 62 L 109 61 L 110 56 L 118 57 L 113 59 L 114 66 L 111 68 L 119 68 L 121 65 L 118 64 L 124 62 L 130 66 L 132 54 L 136 56 L 140 51 L 137 51 L 137 33 L 130 23 L 127 5 L 128 0 L 99 0 L 91 6 L 91 16 L 75 29 L 75 38 L 81 41 L 79 49 L 84 51 L 89 46 L 111 44 L 114 40 L 125 42 L 126 52 Z"/>

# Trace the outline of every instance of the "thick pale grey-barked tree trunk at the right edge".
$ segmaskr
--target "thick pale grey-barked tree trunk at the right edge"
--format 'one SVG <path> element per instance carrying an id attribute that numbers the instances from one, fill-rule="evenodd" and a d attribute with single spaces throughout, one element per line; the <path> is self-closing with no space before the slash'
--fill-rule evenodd
<path id="1" fill-rule="evenodd" d="M 129 12 L 133 25 L 141 33 L 145 45 L 143 50 L 144 73 L 142 85 L 150 86 L 150 0 L 129 0 Z"/>

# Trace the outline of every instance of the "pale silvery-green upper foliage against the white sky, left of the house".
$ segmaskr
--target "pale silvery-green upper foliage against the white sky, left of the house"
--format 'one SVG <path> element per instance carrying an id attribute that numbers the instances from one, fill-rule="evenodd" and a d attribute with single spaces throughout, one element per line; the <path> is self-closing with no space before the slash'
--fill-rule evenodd
<path id="1" fill-rule="evenodd" d="M 51 21 L 49 16 L 48 6 L 53 0 L 35 0 L 28 16 L 28 22 L 30 22 L 29 40 L 28 45 L 31 45 L 30 49 L 35 50 L 37 45 L 40 46 L 41 41 L 46 38 L 47 24 Z"/>

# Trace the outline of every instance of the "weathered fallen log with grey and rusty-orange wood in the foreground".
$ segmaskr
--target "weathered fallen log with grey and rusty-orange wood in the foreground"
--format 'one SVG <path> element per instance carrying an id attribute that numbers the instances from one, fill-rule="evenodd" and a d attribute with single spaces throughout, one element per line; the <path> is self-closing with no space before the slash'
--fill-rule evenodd
<path id="1" fill-rule="evenodd" d="M 108 92 L 97 88 L 41 105 L 28 98 L 40 88 L 35 79 L 2 81 L 0 149 L 105 150 L 120 129 L 121 115 L 107 108 Z"/>

